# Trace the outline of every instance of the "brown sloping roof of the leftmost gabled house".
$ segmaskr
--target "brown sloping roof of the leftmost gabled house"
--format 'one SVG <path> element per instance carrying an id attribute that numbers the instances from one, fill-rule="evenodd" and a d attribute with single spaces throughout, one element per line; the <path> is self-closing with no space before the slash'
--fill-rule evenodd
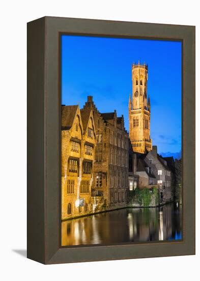
<path id="1" fill-rule="evenodd" d="M 66 105 L 61 107 L 61 127 L 62 130 L 69 130 L 74 122 L 78 105 Z"/>

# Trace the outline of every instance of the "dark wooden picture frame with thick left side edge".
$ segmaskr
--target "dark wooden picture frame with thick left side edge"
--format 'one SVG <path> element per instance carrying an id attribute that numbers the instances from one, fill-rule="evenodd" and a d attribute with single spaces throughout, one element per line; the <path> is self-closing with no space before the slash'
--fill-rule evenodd
<path id="1" fill-rule="evenodd" d="M 182 41 L 183 241 L 60 246 L 63 33 Z M 195 254 L 195 27 L 61 17 L 28 22 L 27 257 L 56 264 L 190 254 Z"/>

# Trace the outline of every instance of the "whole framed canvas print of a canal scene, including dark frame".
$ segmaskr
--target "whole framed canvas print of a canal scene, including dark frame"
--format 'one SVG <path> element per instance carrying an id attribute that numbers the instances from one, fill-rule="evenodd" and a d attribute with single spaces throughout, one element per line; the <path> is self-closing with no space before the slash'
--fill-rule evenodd
<path id="1" fill-rule="evenodd" d="M 27 257 L 195 254 L 195 27 L 27 24 Z"/>

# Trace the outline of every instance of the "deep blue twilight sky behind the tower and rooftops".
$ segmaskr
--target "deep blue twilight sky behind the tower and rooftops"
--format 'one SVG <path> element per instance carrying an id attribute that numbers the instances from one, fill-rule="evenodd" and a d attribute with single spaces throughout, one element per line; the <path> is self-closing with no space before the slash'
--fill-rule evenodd
<path id="1" fill-rule="evenodd" d="M 163 156 L 181 151 L 181 42 L 62 35 L 62 104 L 87 96 L 100 112 L 124 114 L 132 95 L 131 64 L 148 63 L 151 138 Z"/>

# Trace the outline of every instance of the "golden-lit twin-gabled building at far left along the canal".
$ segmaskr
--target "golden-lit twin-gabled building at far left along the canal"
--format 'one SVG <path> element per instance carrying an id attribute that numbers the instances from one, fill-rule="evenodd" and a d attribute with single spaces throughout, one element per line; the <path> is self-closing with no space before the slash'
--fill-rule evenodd
<path id="1" fill-rule="evenodd" d="M 92 212 L 95 144 L 92 111 L 62 106 L 62 219 Z"/>

